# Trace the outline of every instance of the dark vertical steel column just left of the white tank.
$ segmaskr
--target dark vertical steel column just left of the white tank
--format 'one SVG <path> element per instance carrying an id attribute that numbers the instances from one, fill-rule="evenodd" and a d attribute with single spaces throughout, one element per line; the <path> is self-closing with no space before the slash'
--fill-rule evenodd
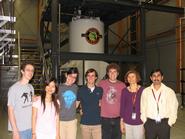
<path id="1" fill-rule="evenodd" d="M 52 27 L 51 27 L 51 50 L 52 50 L 52 76 L 58 79 L 59 77 L 59 61 L 58 61 L 58 25 L 57 25 L 57 18 L 58 18 L 58 0 L 52 0 L 51 5 L 51 20 L 52 20 Z"/>

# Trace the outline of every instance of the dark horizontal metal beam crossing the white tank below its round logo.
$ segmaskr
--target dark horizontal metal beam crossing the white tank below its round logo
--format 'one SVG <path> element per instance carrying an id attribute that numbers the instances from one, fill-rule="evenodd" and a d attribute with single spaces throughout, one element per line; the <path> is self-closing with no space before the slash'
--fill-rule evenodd
<path id="1" fill-rule="evenodd" d="M 143 56 L 111 55 L 98 53 L 61 52 L 61 60 L 96 60 L 115 62 L 142 62 Z"/>

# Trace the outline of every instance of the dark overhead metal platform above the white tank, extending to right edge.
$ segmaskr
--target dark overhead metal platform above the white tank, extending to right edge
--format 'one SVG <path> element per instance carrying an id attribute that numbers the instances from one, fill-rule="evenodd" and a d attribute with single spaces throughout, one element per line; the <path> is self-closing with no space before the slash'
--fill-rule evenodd
<path id="1" fill-rule="evenodd" d="M 156 1 L 156 3 L 150 3 L 147 0 L 59 0 L 61 21 L 65 23 L 69 23 L 71 18 L 78 14 L 78 10 L 81 10 L 81 15 L 84 17 L 100 17 L 101 21 L 106 25 L 119 21 L 140 8 L 177 14 L 184 13 L 183 8 L 158 5 L 157 2 L 160 2 L 160 0 Z M 42 20 L 51 21 L 51 5 L 52 0 L 50 0 L 48 7 L 43 12 Z"/>

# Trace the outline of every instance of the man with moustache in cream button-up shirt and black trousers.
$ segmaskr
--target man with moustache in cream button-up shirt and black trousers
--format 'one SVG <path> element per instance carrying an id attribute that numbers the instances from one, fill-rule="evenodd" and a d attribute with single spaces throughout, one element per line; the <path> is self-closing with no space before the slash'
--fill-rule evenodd
<path id="1" fill-rule="evenodd" d="M 170 127 L 176 122 L 178 101 L 175 92 L 162 83 L 163 73 L 150 74 L 151 86 L 141 95 L 141 120 L 146 139 L 170 139 Z"/>

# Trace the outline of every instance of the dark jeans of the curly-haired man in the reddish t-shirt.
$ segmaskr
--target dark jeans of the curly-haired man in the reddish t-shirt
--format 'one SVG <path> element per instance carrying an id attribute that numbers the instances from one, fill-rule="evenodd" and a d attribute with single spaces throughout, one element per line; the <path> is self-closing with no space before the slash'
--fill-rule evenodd
<path id="1" fill-rule="evenodd" d="M 120 117 L 102 117 L 102 139 L 121 139 Z"/>

